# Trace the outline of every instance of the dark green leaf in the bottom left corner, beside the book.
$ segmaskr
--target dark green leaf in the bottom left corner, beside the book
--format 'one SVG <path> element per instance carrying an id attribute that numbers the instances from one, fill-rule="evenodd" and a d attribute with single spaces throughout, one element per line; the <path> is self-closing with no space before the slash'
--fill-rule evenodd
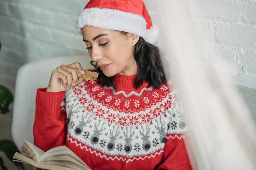
<path id="1" fill-rule="evenodd" d="M 5 155 L 8 157 L 9 160 L 11 160 L 12 163 L 14 163 L 17 167 L 22 168 L 25 170 L 24 165 L 21 162 L 13 162 L 13 155 L 18 150 L 18 148 L 15 146 L 13 141 L 8 139 L 0 140 L 0 151 L 4 152 Z"/>

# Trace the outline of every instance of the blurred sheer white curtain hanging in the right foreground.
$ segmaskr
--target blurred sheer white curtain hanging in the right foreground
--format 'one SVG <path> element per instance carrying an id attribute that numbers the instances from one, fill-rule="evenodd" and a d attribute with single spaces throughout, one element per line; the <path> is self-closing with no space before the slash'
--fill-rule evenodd
<path id="1" fill-rule="evenodd" d="M 187 12 L 196 6 L 188 2 L 145 0 L 148 11 L 158 19 L 162 33 L 158 44 L 189 119 L 190 136 L 185 143 L 192 166 L 202 170 L 255 170 L 256 132 L 250 114 L 230 84 L 230 68 L 223 65 L 222 57 L 204 63 L 203 50 L 207 48 L 195 39 L 205 30 L 192 24 Z"/>

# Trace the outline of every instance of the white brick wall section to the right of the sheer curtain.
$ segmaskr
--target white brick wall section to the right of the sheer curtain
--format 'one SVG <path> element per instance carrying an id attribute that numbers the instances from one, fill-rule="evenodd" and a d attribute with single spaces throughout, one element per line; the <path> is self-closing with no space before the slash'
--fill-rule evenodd
<path id="1" fill-rule="evenodd" d="M 209 62 L 220 52 L 234 84 L 256 88 L 256 1 L 186 0 L 191 18 L 207 33 Z"/>

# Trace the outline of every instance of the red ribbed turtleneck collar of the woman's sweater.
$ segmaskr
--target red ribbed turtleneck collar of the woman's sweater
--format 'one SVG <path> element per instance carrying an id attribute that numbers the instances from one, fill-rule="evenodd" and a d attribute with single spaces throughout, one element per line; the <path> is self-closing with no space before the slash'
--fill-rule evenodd
<path id="1" fill-rule="evenodd" d="M 138 89 L 135 88 L 134 82 L 135 82 L 136 76 L 137 74 L 130 75 L 130 76 L 116 74 L 114 77 L 114 83 L 115 83 L 116 89 L 124 90 L 124 91 L 127 91 L 127 90 L 134 91 L 142 88 L 147 88 L 148 83 L 146 81 L 143 81 L 143 83 L 140 85 Z"/>

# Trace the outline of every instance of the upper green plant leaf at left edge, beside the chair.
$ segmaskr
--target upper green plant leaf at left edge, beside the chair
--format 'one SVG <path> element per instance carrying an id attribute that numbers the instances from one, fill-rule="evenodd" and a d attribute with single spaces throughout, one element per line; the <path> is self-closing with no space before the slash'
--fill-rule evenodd
<path id="1" fill-rule="evenodd" d="M 13 101 L 12 92 L 0 85 L 0 113 L 5 114 L 9 112 L 9 105 Z"/>

